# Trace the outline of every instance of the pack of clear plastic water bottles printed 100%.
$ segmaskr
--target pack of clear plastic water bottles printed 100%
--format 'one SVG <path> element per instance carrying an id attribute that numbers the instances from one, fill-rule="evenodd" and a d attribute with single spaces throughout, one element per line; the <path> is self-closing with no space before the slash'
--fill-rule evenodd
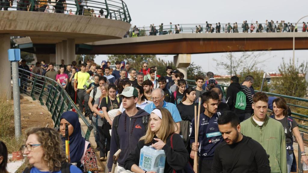
<path id="1" fill-rule="evenodd" d="M 140 150 L 139 167 L 144 171 L 164 173 L 166 155 L 164 150 L 144 146 Z"/>

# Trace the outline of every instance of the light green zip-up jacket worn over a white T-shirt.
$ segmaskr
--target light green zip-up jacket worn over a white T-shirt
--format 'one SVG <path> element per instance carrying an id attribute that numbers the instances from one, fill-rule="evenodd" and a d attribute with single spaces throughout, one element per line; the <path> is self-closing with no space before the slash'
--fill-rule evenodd
<path id="1" fill-rule="evenodd" d="M 266 116 L 259 126 L 251 116 L 241 122 L 241 133 L 259 142 L 270 155 L 271 173 L 287 173 L 286 136 L 279 121 Z"/>

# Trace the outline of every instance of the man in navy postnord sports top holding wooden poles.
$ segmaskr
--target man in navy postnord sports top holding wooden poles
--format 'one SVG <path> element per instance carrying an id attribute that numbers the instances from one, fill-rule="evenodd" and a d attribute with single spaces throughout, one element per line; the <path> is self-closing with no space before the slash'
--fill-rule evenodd
<path id="1" fill-rule="evenodd" d="M 190 124 L 190 143 L 192 151 L 190 157 L 193 159 L 195 152 L 199 153 L 199 173 L 211 173 L 214 159 L 214 151 L 219 143 L 223 141 L 218 129 L 217 120 L 221 115 L 217 112 L 219 95 L 215 91 L 206 91 L 202 94 L 202 103 L 205 108 L 200 114 L 198 142 L 195 143 L 195 119 Z M 198 117 L 199 118 L 199 117 Z"/>

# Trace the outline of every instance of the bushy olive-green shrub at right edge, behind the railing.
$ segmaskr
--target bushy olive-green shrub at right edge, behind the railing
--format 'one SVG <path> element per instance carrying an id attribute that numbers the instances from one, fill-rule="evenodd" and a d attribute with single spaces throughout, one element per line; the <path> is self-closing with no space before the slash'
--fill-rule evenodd
<path id="1" fill-rule="evenodd" d="M 289 60 L 289 63 L 282 58 L 282 64 L 278 67 L 281 77 L 273 83 L 275 93 L 289 95 L 294 97 L 304 97 L 306 95 L 307 82 L 305 80 L 307 62 L 294 65 Z"/>

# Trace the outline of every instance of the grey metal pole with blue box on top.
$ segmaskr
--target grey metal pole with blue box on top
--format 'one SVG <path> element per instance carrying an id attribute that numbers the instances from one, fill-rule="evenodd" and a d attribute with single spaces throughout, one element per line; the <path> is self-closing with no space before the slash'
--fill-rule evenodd
<path id="1" fill-rule="evenodd" d="M 20 96 L 19 96 L 19 76 L 18 76 L 18 61 L 20 60 L 20 49 L 9 49 L 8 54 L 9 54 L 9 61 L 11 62 L 12 65 L 15 138 L 18 139 L 21 136 Z"/>

